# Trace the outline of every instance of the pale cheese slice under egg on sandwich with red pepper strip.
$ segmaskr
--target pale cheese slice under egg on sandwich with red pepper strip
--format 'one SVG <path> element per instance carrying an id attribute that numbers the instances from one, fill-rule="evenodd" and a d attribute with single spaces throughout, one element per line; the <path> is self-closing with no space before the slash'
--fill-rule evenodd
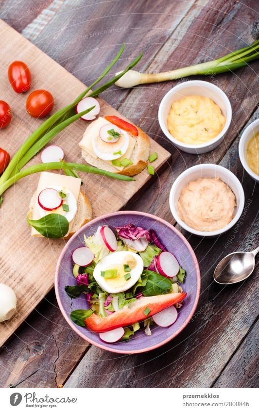
<path id="1" fill-rule="evenodd" d="M 83 136 L 81 142 L 79 143 L 79 147 L 82 148 L 83 150 L 85 150 L 86 153 L 91 155 L 94 159 L 98 159 L 98 156 L 95 154 L 95 152 L 93 150 L 92 138 L 96 137 L 96 136 L 99 136 L 99 131 L 100 131 L 101 127 L 104 126 L 105 124 L 108 124 L 108 123 L 110 123 L 110 122 L 108 120 L 104 119 L 104 117 L 98 117 L 97 120 L 93 121 L 86 128 L 84 136 Z M 111 127 L 112 127 L 113 124 L 112 123 L 110 123 L 110 124 L 111 124 Z M 128 136 L 129 136 L 129 146 L 128 146 L 126 152 L 121 157 L 119 157 L 119 159 L 117 159 L 117 161 L 120 161 L 120 160 L 125 159 L 125 158 L 126 159 L 131 158 L 134 146 L 136 144 L 136 140 L 130 134 L 128 134 Z M 113 167 L 115 167 L 118 170 L 123 169 L 123 166 L 114 166 L 110 160 L 107 160 L 106 162 L 109 163 L 110 165 L 112 165 Z"/>

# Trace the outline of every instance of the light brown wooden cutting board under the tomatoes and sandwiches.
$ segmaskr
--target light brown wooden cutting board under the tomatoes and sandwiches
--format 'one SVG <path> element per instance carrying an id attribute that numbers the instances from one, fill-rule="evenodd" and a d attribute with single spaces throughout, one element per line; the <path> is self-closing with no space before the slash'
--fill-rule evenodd
<path id="1" fill-rule="evenodd" d="M 3 45 L 0 50 L 0 99 L 9 103 L 13 114 L 11 124 L 0 131 L 0 147 L 12 156 L 42 120 L 34 119 L 26 112 L 29 93 L 18 95 L 10 86 L 7 70 L 11 62 L 21 60 L 30 67 L 31 91 L 47 89 L 52 93 L 55 99 L 53 112 L 73 101 L 86 86 L 2 20 L 0 36 Z M 93 77 L 99 74 L 93 73 Z M 101 115 L 119 115 L 104 100 L 99 101 Z M 53 139 L 63 148 L 66 161 L 84 163 L 78 142 L 85 129 L 86 122 L 78 120 Z M 151 139 L 151 153 L 153 151 L 157 152 L 158 159 L 152 165 L 158 172 L 171 155 Z M 41 163 L 39 155 L 30 162 L 36 163 Z M 82 190 L 92 204 L 93 217 L 120 210 L 151 178 L 147 170 L 138 175 L 134 182 L 116 181 L 93 174 L 81 173 L 80 176 L 84 182 Z M 26 214 L 38 178 L 35 174 L 18 181 L 4 193 L 0 208 L 0 282 L 11 286 L 17 295 L 16 316 L 0 323 L 1 346 L 52 289 L 56 261 L 65 246 L 62 239 L 31 236 Z"/>

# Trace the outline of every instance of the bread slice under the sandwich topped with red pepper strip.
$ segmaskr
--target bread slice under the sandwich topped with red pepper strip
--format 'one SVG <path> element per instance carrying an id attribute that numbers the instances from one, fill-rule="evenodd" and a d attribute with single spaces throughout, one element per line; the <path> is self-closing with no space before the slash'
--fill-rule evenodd
<path id="1" fill-rule="evenodd" d="M 99 158 L 95 159 L 91 154 L 87 153 L 84 149 L 82 149 L 83 158 L 85 159 L 86 163 L 88 163 L 89 165 L 99 167 L 100 169 L 107 170 L 108 172 L 118 173 L 118 174 L 126 175 L 126 176 L 138 175 L 138 173 L 142 172 L 142 170 L 148 164 L 148 157 L 149 157 L 149 152 L 150 152 L 150 141 L 146 133 L 144 133 L 138 127 L 137 129 L 138 129 L 138 136 L 136 137 L 136 136 L 131 135 L 136 141 L 134 149 L 131 154 L 131 158 L 130 158 L 133 165 L 129 165 L 129 166 L 124 167 L 122 170 L 118 170 L 118 168 L 114 167 L 113 165 L 111 165 L 109 162 L 106 162 L 105 160 L 102 160 Z"/>

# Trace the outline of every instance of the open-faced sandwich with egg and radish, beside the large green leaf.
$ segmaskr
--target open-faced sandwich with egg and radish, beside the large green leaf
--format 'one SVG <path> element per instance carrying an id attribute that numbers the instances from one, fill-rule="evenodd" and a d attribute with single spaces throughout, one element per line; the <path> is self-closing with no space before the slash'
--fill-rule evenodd
<path id="1" fill-rule="evenodd" d="M 89 199 L 80 191 L 81 179 L 57 173 L 41 172 L 37 189 L 30 202 L 29 219 L 34 221 L 48 214 L 65 216 L 69 230 L 64 238 L 71 237 L 92 218 Z M 33 236 L 42 236 L 32 226 Z"/>

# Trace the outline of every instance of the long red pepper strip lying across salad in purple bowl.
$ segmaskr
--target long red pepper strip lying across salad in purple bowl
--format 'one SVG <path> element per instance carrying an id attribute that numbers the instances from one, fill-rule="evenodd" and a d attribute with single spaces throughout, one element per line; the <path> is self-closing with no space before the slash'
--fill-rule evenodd
<path id="1" fill-rule="evenodd" d="M 100 317 L 95 313 L 86 318 L 86 326 L 94 332 L 106 332 L 116 328 L 133 325 L 136 322 L 147 319 L 155 313 L 180 302 L 186 297 L 186 293 L 169 293 L 167 295 L 140 297 L 130 304 L 130 307 L 121 309 L 119 312 Z M 148 308 L 150 312 L 146 316 L 144 310 Z"/>

